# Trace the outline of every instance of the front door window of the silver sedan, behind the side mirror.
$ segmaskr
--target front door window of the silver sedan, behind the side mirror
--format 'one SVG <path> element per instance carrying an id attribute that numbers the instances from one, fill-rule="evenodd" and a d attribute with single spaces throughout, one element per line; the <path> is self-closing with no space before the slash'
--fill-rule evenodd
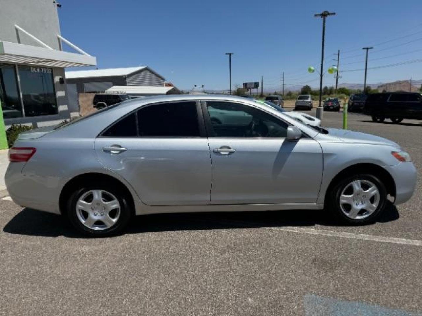
<path id="1" fill-rule="evenodd" d="M 253 107 L 207 102 L 214 137 L 286 137 L 287 123 Z"/>

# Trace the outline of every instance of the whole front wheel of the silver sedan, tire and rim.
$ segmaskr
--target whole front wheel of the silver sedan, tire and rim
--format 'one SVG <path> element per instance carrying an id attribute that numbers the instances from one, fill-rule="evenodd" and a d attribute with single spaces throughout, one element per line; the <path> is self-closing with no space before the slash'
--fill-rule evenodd
<path id="1" fill-rule="evenodd" d="M 371 174 L 358 174 L 341 180 L 327 196 L 330 210 L 343 223 L 373 223 L 387 203 L 385 185 Z"/>

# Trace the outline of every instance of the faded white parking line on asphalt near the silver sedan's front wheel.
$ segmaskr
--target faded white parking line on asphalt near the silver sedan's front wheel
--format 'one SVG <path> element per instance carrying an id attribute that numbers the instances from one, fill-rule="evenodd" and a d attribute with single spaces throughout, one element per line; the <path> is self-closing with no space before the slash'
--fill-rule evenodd
<path id="1" fill-rule="evenodd" d="M 322 235 L 322 236 L 333 236 L 333 237 L 341 237 L 341 238 L 378 241 L 378 242 L 391 243 L 391 244 L 422 246 L 422 240 L 416 240 L 416 239 L 383 237 L 383 236 L 373 236 L 373 235 L 355 234 L 355 233 L 343 233 L 343 232 L 337 232 L 337 231 L 332 231 L 332 230 L 319 230 L 319 229 L 302 228 L 302 227 L 289 227 L 289 228 L 268 227 L 267 229 L 283 230 L 283 231 L 289 231 L 289 232 L 294 232 L 294 233 L 304 233 L 304 234 L 311 234 L 311 235 Z"/>

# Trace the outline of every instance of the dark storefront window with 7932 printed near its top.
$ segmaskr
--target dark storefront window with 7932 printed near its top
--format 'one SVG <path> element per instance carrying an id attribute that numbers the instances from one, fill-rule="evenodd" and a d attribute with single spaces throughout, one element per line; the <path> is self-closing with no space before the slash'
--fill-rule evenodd
<path id="1" fill-rule="evenodd" d="M 57 114 L 51 68 L 18 66 L 25 116 Z"/>

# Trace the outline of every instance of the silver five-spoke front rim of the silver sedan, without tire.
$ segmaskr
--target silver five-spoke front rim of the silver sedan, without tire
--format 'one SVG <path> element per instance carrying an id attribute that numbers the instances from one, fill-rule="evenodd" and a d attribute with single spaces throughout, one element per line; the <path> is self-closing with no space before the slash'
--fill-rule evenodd
<path id="1" fill-rule="evenodd" d="M 350 182 L 340 194 L 340 209 L 352 220 L 363 220 L 376 211 L 380 204 L 378 187 L 369 180 Z"/>

